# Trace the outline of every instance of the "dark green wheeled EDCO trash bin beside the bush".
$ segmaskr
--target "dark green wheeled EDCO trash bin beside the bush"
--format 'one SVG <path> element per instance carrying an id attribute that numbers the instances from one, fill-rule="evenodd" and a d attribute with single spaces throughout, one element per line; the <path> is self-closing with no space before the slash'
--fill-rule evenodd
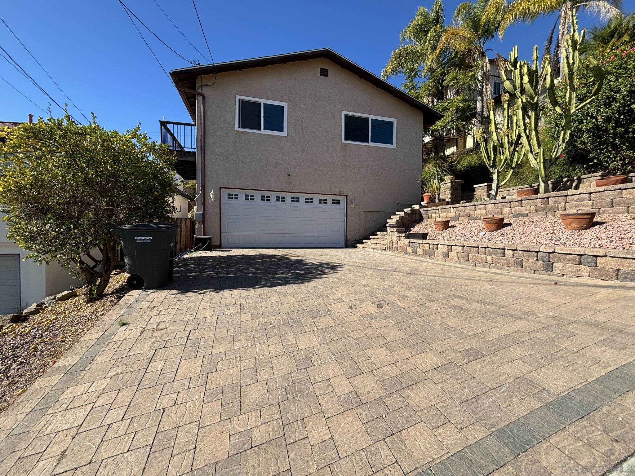
<path id="1" fill-rule="evenodd" d="M 172 281 L 176 223 L 137 223 L 112 228 L 121 235 L 128 287 L 156 289 Z"/>

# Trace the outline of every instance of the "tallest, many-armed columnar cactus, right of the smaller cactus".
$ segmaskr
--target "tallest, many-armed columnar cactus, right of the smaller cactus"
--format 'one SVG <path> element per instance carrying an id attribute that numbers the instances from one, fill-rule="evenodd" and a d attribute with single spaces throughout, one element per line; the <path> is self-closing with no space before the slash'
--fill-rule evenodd
<path id="1" fill-rule="evenodd" d="M 511 79 L 505 79 L 505 89 L 511 92 L 516 102 L 517 121 L 523 138 L 523 149 L 531 166 L 538 171 L 541 194 L 549 192 L 549 169 L 559 159 L 571 133 L 571 116 L 577 110 L 582 109 L 594 96 L 598 95 L 604 82 L 604 71 L 599 63 L 593 58 L 588 58 L 591 64 L 594 77 L 594 87 L 591 96 L 581 103 L 578 103 L 577 92 L 577 72 L 580 64 L 578 48 L 584 41 L 585 30 L 578 33 L 578 21 L 575 10 L 571 11 L 571 30 L 566 36 L 565 53 L 562 61 L 563 77 L 561 81 L 565 83 L 566 100 L 558 103 L 556 99 L 556 79 L 554 78 L 549 56 L 545 55 L 542 63 L 543 70 L 540 71 L 538 65 L 538 46 L 533 47 L 532 64 L 526 61 L 518 61 L 518 46 L 509 53 L 507 69 L 511 71 Z M 544 80 L 544 84 L 543 83 Z M 547 98 L 552 107 L 559 114 L 563 115 L 563 122 L 558 140 L 554 143 L 551 154 L 547 157 L 544 147 L 540 143 L 538 136 L 538 126 L 540 125 L 541 107 L 540 89 L 544 87 L 547 91 Z"/>

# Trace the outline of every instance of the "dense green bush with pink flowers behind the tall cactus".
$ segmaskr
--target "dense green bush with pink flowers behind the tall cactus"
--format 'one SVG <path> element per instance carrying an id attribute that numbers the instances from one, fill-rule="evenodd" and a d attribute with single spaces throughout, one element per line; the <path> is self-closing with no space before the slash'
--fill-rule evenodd
<path id="1" fill-rule="evenodd" d="M 573 114 L 564 158 L 584 173 L 632 172 L 635 171 L 635 45 L 613 48 L 598 60 L 606 72 L 604 88 L 589 105 Z M 593 77 L 585 61 L 578 70 L 578 82 L 578 96 L 587 96 Z M 564 84 L 556 88 L 559 100 L 565 100 L 565 90 Z M 554 131 L 558 130 L 562 116 L 547 108 L 545 125 L 556 138 Z"/>

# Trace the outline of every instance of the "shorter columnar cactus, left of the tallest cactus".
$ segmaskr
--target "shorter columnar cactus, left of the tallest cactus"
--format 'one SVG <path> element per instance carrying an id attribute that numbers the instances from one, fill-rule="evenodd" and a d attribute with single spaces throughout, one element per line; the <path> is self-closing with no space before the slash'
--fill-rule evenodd
<path id="1" fill-rule="evenodd" d="M 509 94 L 503 95 L 503 122 L 498 129 L 494 102 L 490 100 L 490 135 L 483 133 L 483 129 L 476 131 L 476 138 L 481 145 L 483 162 L 491 173 L 490 200 L 496 199 L 498 187 L 505 185 L 516 167 L 519 166 L 525 149 L 522 145 L 521 130 L 518 126 L 516 106 L 509 107 Z"/>

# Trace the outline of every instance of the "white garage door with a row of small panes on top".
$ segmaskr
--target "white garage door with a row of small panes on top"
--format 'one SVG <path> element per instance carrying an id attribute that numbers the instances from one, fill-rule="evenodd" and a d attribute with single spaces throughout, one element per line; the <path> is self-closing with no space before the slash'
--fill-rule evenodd
<path id="1" fill-rule="evenodd" d="M 342 248 L 344 195 L 223 189 L 221 241 L 225 248 Z"/>

